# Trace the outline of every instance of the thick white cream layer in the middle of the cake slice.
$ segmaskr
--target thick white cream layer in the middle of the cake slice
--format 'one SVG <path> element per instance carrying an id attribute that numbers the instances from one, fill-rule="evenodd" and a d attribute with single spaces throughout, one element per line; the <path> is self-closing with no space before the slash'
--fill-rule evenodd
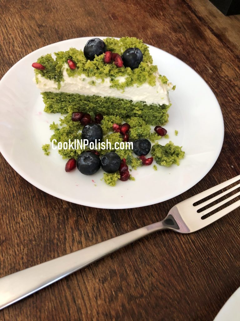
<path id="1" fill-rule="evenodd" d="M 172 89 L 172 84 L 163 84 L 160 79 L 158 79 L 158 73 L 156 73 L 156 85 L 150 86 L 147 82 L 142 85 L 134 84 L 133 86 L 125 87 L 124 91 L 117 88 L 111 88 L 110 77 L 104 79 L 96 79 L 95 77 L 86 77 L 84 74 L 75 75 L 69 77 L 66 68 L 68 65 L 63 66 L 63 78 L 64 81 L 60 83 L 61 87 L 58 89 L 58 84 L 54 80 L 46 79 L 42 75 L 36 75 L 37 87 L 41 92 L 51 91 L 51 92 L 68 92 L 72 94 L 82 94 L 82 95 L 97 95 L 97 96 L 110 96 L 116 98 L 123 98 L 132 100 L 133 102 L 145 101 L 148 105 L 159 104 L 159 105 L 169 105 L 168 91 Z M 116 79 L 119 82 L 124 82 L 125 78 L 120 76 Z M 36 79 L 34 79 L 36 82 Z M 94 81 L 95 85 L 90 82 Z"/>

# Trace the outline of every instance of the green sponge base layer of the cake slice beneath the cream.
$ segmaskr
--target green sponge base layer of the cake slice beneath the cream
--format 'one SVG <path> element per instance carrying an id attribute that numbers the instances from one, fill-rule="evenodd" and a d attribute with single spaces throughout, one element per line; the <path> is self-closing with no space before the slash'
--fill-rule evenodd
<path id="1" fill-rule="evenodd" d="M 117 115 L 126 119 L 140 117 L 149 125 L 164 125 L 168 121 L 168 109 L 171 105 L 147 105 L 144 102 L 115 97 L 80 95 L 65 92 L 42 92 L 45 112 L 66 114 L 68 110 L 81 110 L 84 113 Z"/>

